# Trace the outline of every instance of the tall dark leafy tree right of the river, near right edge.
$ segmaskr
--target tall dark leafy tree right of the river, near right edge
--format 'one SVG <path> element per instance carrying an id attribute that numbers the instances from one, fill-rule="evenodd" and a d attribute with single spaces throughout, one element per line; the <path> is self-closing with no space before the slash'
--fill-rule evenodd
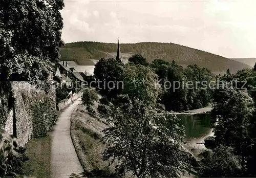
<path id="1" fill-rule="evenodd" d="M 212 117 L 218 119 L 214 126 L 216 142 L 234 148 L 234 153 L 242 159 L 243 172 L 250 149 L 252 103 L 252 98 L 246 92 L 224 86 L 215 91 L 211 111 Z"/>

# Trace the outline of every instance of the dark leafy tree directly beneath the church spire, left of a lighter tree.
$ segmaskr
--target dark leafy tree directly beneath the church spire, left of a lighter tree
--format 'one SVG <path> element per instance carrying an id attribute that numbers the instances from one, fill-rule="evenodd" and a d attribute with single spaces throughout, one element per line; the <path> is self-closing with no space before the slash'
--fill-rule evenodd
<path id="1" fill-rule="evenodd" d="M 101 58 L 94 69 L 94 76 L 98 80 L 98 90 L 101 95 L 116 98 L 122 91 L 123 63 L 114 58 Z"/>

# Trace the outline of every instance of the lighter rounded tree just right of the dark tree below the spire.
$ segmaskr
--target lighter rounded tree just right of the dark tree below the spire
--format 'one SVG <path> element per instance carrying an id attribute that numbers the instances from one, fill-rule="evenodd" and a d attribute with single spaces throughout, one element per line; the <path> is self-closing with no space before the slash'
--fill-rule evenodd
<path id="1" fill-rule="evenodd" d="M 122 77 L 122 94 L 130 98 L 139 98 L 142 102 L 154 105 L 161 93 L 157 75 L 149 67 L 126 64 Z"/>

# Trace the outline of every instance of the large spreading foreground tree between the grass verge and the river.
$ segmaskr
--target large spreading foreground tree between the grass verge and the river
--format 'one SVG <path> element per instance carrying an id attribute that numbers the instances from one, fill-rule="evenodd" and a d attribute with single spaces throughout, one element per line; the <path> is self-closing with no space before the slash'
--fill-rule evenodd
<path id="1" fill-rule="evenodd" d="M 140 177 L 178 177 L 189 167 L 189 153 L 182 149 L 184 128 L 164 110 L 152 110 L 139 99 L 119 96 L 109 105 L 111 127 L 104 130 L 104 160 L 117 160 L 116 169 Z"/>

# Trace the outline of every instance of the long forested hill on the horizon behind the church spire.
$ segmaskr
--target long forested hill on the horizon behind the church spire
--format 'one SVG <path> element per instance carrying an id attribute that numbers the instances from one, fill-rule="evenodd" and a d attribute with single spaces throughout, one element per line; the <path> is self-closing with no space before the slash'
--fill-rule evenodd
<path id="1" fill-rule="evenodd" d="M 126 43 L 120 44 L 120 50 L 123 59 L 128 59 L 133 54 L 141 54 L 149 62 L 154 59 L 175 60 L 183 65 L 198 64 L 212 72 L 224 72 L 227 69 L 237 72 L 250 68 L 249 65 L 238 61 L 174 43 Z M 60 49 L 60 54 L 61 60 L 73 60 L 80 65 L 94 65 L 93 59 L 115 57 L 116 51 L 116 43 L 84 41 L 67 43 Z"/>

